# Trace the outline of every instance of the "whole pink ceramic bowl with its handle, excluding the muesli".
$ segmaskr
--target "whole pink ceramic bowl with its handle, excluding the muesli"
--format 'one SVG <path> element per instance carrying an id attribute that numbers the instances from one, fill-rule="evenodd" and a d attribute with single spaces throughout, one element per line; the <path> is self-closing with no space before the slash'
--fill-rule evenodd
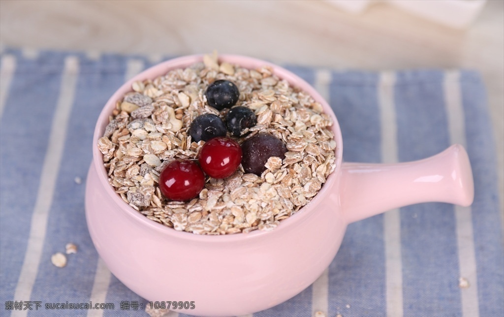
<path id="1" fill-rule="evenodd" d="M 250 69 L 271 66 L 278 77 L 319 101 L 334 121 L 337 168 L 308 205 L 273 231 L 206 236 L 165 227 L 115 194 L 96 144 L 116 100 L 131 90 L 133 81 L 153 79 L 202 61 L 202 56 L 162 62 L 125 83 L 108 100 L 96 124 L 86 218 L 100 257 L 138 295 L 150 301 L 194 301 L 194 309 L 179 311 L 196 315 L 256 312 L 313 283 L 335 257 L 349 223 L 415 203 L 472 203 L 472 172 L 461 146 L 409 163 L 343 163 L 338 121 L 310 85 L 266 61 L 236 55 L 221 55 L 220 60 Z"/>

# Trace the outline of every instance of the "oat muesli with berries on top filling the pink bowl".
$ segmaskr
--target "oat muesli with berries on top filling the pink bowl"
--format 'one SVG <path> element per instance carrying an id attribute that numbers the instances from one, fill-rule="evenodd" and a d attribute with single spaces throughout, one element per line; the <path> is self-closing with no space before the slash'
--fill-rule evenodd
<path id="1" fill-rule="evenodd" d="M 214 53 L 132 90 L 117 101 L 98 147 L 124 202 L 175 230 L 272 230 L 316 196 L 335 169 L 330 116 L 269 67 L 219 64 Z M 231 159 L 219 166 L 234 166 L 212 166 L 227 149 Z M 185 180 L 195 192 L 170 196 L 170 182 L 187 168 L 197 169 Z"/>

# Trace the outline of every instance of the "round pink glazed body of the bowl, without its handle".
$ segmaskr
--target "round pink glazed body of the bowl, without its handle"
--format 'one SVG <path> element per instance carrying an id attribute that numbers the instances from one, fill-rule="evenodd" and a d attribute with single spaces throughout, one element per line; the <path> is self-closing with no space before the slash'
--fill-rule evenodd
<path id="1" fill-rule="evenodd" d="M 250 69 L 272 66 L 277 76 L 321 102 L 335 122 L 336 157 L 341 165 L 342 141 L 336 117 L 311 86 L 262 60 L 228 55 L 220 59 Z M 134 81 L 152 79 L 201 60 L 202 56 L 169 60 L 125 83 L 101 112 L 93 145 L 103 135 L 116 100 L 131 91 Z M 200 236 L 164 227 L 125 204 L 109 185 L 102 155 L 93 147 L 86 188 L 87 222 L 110 271 L 140 296 L 152 301 L 195 301 L 196 308 L 185 311 L 191 314 L 241 315 L 293 297 L 329 266 L 346 229 L 341 213 L 336 212 L 338 175 L 333 173 L 316 198 L 271 232 Z"/>

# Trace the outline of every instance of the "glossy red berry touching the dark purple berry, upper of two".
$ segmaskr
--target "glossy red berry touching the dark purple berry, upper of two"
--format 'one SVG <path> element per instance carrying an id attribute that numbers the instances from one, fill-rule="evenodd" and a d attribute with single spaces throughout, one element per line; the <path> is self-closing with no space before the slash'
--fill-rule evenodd
<path id="1" fill-rule="evenodd" d="M 241 148 L 236 141 L 225 137 L 209 140 L 200 150 L 201 168 L 214 178 L 231 176 L 241 163 Z"/>

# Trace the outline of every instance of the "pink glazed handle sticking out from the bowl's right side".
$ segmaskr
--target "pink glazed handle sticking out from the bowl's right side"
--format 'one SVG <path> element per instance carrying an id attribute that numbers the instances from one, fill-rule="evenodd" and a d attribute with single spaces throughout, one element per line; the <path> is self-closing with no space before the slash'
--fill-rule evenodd
<path id="1" fill-rule="evenodd" d="M 469 206 L 473 199 L 469 157 L 458 144 L 418 161 L 342 164 L 340 204 L 347 223 L 417 203 Z"/>

